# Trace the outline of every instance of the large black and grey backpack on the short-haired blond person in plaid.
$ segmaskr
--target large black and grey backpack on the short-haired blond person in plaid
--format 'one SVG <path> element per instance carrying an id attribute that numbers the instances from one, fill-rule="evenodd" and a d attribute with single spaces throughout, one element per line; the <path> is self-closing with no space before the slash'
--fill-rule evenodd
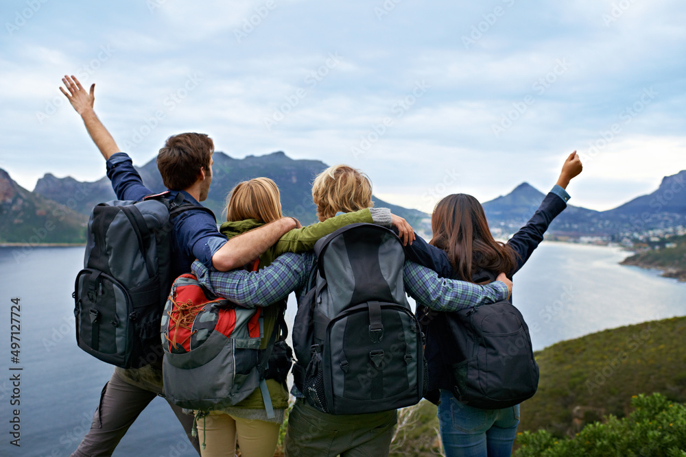
<path id="1" fill-rule="evenodd" d="M 423 334 L 405 296 L 399 238 L 356 223 L 321 238 L 314 251 L 317 267 L 292 332 L 298 390 L 333 415 L 419 402 L 426 385 Z"/>

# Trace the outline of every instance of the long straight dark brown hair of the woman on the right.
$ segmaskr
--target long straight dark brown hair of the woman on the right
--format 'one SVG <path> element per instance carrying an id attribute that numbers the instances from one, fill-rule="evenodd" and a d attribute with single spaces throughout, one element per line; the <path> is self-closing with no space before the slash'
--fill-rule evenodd
<path id="1" fill-rule="evenodd" d="M 476 269 L 509 274 L 517 266 L 517 252 L 493 239 L 484 208 L 471 195 L 448 195 L 436 203 L 431 230 L 429 243 L 446 251 L 461 280 L 472 282 Z"/>

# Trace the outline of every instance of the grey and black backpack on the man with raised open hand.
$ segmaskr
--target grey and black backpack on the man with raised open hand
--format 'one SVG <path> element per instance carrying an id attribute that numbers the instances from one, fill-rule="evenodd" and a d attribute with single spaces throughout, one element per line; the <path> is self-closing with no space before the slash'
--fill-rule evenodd
<path id="1" fill-rule="evenodd" d="M 179 193 L 99 203 L 88 219 L 76 277 L 76 341 L 121 368 L 161 365 L 160 319 L 171 287 L 171 218 L 191 209 Z"/>

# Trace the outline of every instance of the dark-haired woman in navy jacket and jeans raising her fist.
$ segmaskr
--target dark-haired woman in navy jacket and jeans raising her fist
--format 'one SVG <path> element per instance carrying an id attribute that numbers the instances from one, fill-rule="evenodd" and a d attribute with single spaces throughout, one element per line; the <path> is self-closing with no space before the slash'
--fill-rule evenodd
<path id="1" fill-rule="evenodd" d="M 569 181 L 581 173 L 576 151 L 571 153 L 557 184 L 548 193 L 532 218 L 507 243 L 493 239 L 481 203 L 471 195 L 453 194 L 438 202 L 431 215 L 434 232 L 429 244 L 417 237 L 407 246 L 409 260 L 424 264 L 444 277 L 474 282 L 501 271 L 511 279 L 543 240 L 552 220 L 566 207 Z M 421 308 L 421 307 L 418 307 Z M 519 424 L 519 405 L 484 410 L 463 404 L 453 395 L 449 366 L 456 360 L 442 313 L 425 319 L 429 362 L 429 394 L 438 404 L 440 436 L 445 455 L 510 456 Z"/>

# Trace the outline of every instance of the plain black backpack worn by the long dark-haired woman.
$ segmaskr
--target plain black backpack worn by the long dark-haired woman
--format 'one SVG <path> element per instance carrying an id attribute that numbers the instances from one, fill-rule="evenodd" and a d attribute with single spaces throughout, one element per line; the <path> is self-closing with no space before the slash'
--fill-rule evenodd
<path id="1" fill-rule="evenodd" d="M 487 271 L 473 281 L 495 280 Z M 419 310 L 418 310 L 419 311 Z M 465 308 L 456 312 L 431 312 L 421 322 L 443 319 L 447 330 L 441 338 L 441 358 L 448 371 L 453 395 L 475 408 L 508 408 L 529 399 L 539 385 L 529 328 L 510 301 Z M 429 326 L 428 332 L 431 332 Z"/>

